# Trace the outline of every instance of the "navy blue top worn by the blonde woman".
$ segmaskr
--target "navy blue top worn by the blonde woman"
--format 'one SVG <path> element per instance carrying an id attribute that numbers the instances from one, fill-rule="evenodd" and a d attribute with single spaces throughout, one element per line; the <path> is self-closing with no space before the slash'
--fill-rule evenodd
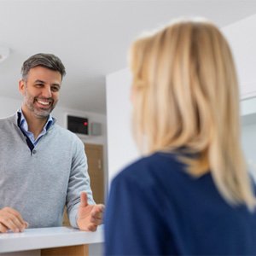
<path id="1" fill-rule="evenodd" d="M 230 206 L 210 172 L 192 177 L 176 154 L 119 172 L 104 223 L 105 255 L 256 255 L 256 213 Z"/>

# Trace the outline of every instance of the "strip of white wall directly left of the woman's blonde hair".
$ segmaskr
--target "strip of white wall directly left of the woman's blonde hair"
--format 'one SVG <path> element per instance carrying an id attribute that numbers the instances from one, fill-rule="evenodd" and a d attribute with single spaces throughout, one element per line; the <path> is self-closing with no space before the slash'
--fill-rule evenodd
<path id="1" fill-rule="evenodd" d="M 107 76 L 108 180 L 139 155 L 131 135 L 131 73 Z"/>

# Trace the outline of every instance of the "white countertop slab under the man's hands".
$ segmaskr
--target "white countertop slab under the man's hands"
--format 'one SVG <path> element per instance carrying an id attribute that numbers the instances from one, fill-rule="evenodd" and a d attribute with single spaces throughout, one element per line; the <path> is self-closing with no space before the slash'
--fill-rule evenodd
<path id="1" fill-rule="evenodd" d="M 27 229 L 22 233 L 0 234 L 0 253 L 103 242 L 103 225 L 96 232 L 68 227 Z"/>

